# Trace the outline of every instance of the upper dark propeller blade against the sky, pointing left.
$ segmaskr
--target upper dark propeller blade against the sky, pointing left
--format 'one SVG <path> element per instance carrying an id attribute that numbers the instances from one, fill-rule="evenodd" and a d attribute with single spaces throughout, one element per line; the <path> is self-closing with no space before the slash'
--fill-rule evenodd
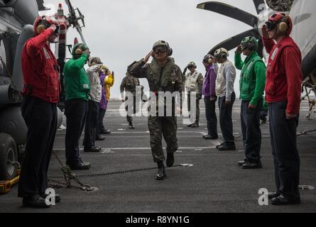
<path id="1" fill-rule="evenodd" d="M 202 4 L 198 4 L 197 8 L 213 11 L 224 16 L 229 16 L 230 18 L 234 18 L 238 21 L 246 23 L 251 27 L 256 26 L 256 24 L 258 23 L 257 16 L 254 16 L 251 13 L 247 13 L 246 11 L 238 9 L 229 4 L 224 4 L 218 1 L 207 1 Z"/>

